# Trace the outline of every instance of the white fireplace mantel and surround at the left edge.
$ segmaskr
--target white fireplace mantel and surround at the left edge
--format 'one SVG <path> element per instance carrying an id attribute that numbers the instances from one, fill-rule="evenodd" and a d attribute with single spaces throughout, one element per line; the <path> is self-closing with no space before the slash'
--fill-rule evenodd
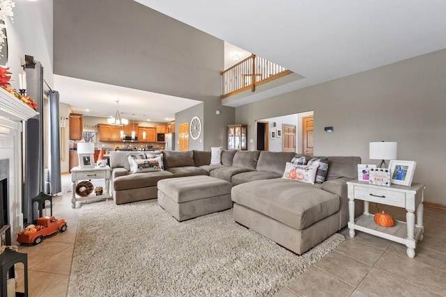
<path id="1" fill-rule="evenodd" d="M 38 112 L 0 88 L 0 159 L 9 159 L 8 219 L 13 234 L 23 227 L 22 121 L 36 115 Z"/>

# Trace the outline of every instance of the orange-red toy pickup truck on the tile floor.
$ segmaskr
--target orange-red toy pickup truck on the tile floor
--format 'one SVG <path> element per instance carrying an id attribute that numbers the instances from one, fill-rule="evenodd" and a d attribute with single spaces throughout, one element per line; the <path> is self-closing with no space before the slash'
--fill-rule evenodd
<path id="1" fill-rule="evenodd" d="M 37 219 L 36 226 L 26 226 L 25 230 L 18 234 L 17 242 L 39 244 L 43 237 L 65 230 L 67 230 L 67 222 L 63 218 L 58 220 L 54 216 L 43 216 Z"/>

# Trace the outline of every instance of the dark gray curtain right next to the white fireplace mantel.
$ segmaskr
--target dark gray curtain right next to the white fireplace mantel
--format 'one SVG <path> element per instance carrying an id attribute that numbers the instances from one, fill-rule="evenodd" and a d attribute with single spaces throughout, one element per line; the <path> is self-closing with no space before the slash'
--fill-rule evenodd
<path id="1" fill-rule="evenodd" d="M 45 188 L 45 156 L 43 142 L 43 67 L 26 68 L 26 93 L 38 104 L 38 115 L 24 125 L 24 185 L 22 195 L 23 217 L 32 221 L 31 199 Z M 36 204 L 37 208 L 37 204 Z"/>

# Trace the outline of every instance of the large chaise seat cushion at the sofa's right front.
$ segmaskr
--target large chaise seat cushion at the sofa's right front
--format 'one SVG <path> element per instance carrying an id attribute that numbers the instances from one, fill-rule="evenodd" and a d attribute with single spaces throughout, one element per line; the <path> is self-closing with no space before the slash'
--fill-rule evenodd
<path id="1" fill-rule="evenodd" d="M 321 190 L 320 186 L 268 179 L 234 186 L 231 198 L 296 230 L 304 230 L 339 211 L 339 196 Z"/>

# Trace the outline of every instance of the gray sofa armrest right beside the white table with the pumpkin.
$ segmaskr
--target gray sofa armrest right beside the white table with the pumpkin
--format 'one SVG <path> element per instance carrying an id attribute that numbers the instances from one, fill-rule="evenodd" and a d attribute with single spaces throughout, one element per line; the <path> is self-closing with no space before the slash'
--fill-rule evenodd
<path id="1" fill-rule="evenodd" d="M 334 195 L 338 195 L 340 198 L 339 203 L 339 230 L 345 227 L 348 223 L 348 190 L 347 182 L 351 178 L 340 177 L 337 179 L 330 179 L 322 183 L 322 189 L 324 191 L 330 192 Z M 355 218 L 362 214 L 364 209 L 363 202 L 361 200 L 355 200 Z"/>

